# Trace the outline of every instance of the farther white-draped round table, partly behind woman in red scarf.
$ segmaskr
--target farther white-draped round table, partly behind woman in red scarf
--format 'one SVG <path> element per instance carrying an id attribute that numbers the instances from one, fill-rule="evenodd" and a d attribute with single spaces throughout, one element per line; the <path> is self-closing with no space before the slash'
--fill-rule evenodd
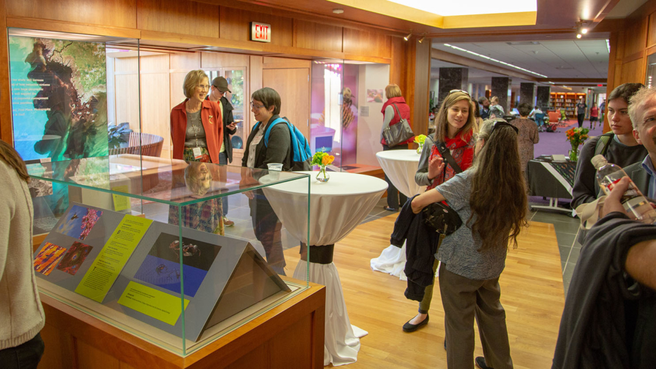
<path id="1" fill-rule="evenodd" d="M 426 186 L 419 186 L 414 181 L 414 174 L 417 172 L 419 165 L 417 150 L 387 150 L 376 152 L 376 159 L 380 163 L 380 168 L 387 174 L 394 186 L 408 198 L 424 192 Z M 403 204 L 401 205 L 403 206 Z M 389 230 L 392 234 L 392 230 Z M 372 259 L 371 266 L 378 272 L 389 273 L 399 277 L 402 281 L 407 280 L 405 277 L 405 243 L 403 248 L 393 245 L 385 248 L 379 257 Z"/>

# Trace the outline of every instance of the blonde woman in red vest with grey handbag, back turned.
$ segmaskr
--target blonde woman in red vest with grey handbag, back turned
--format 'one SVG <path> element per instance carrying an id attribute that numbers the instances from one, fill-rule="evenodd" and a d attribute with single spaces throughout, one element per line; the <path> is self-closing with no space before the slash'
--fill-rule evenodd
<path id="1" fill-rule="evenodd" d="M 383 144 L 383 151 L 407 150 L 408 143 L 414 141 L 414 137 L 410 137 L 407 141 L 398 143 L 398 145 L 394 147 L 389 147 L 385 142 L 383 132 L 385 131 L 385 128 L 398 123 L 401 119 L 405 119 L 410 123 L 410 108 L 407 106 L 405 99 L 403 99 L 403 96 L 401 95 L 401 88 L 396 84 L 387 85 L 387 87 L 385 87 L 385 97 L 387 98 L 387 101 L 385 101 L 383 109 L 381 110 L 383 113 L 383 128 L 380 130 L 380 143 Z M 384 208 L 388 211 L 396 211 L 403 206 L 405 201 L 407 201 L 407 196 L 398 192 L 396 187 L 394 187 L 394 184 L 392 184 L 392 181 L 389 181 L 387 174 L 385 174 L 385 181 L 387 182 L 387 206 Z"/>

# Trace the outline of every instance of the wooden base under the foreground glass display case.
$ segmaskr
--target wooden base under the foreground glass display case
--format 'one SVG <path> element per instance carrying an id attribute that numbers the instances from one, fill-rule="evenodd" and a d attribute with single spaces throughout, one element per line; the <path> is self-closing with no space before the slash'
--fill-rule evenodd
<path id="1" fill-rule="evenodd" d="M 283 277 L 284 278 L 284 277 Z M 209 343 L 180 357 L 41 293 L 50 368 L 322 368 L 325 287 L 310 287 Z"/>

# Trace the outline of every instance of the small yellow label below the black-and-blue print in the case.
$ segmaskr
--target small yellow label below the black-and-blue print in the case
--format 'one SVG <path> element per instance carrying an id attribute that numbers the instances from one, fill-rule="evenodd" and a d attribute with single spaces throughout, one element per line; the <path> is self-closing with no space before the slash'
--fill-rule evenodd
<path id="1" fill-rule="evenodd" d="M 148 315 L 148 317 L 171 324 L 171 326 L 175 326 L 175 322 L 180 317 L 180 312 L 182 312 L 180 297 L 169 295 L 166 292 L 133 281 L 128 283 L 119 299 L 119 303 L 122 306 L 127 306 Z M 187 305 L 189 305 L 189 300 L 184 299 L 185 309 Z"/>

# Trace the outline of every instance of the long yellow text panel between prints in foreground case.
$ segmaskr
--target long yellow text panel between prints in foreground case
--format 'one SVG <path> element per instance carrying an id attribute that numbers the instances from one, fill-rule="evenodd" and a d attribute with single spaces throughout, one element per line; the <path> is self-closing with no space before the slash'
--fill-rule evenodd
<path id="1" fill-rule="evenodd" d="M 75 292 L 102 303 L 151 223 L 133 215 L 123 217 Z"/>

